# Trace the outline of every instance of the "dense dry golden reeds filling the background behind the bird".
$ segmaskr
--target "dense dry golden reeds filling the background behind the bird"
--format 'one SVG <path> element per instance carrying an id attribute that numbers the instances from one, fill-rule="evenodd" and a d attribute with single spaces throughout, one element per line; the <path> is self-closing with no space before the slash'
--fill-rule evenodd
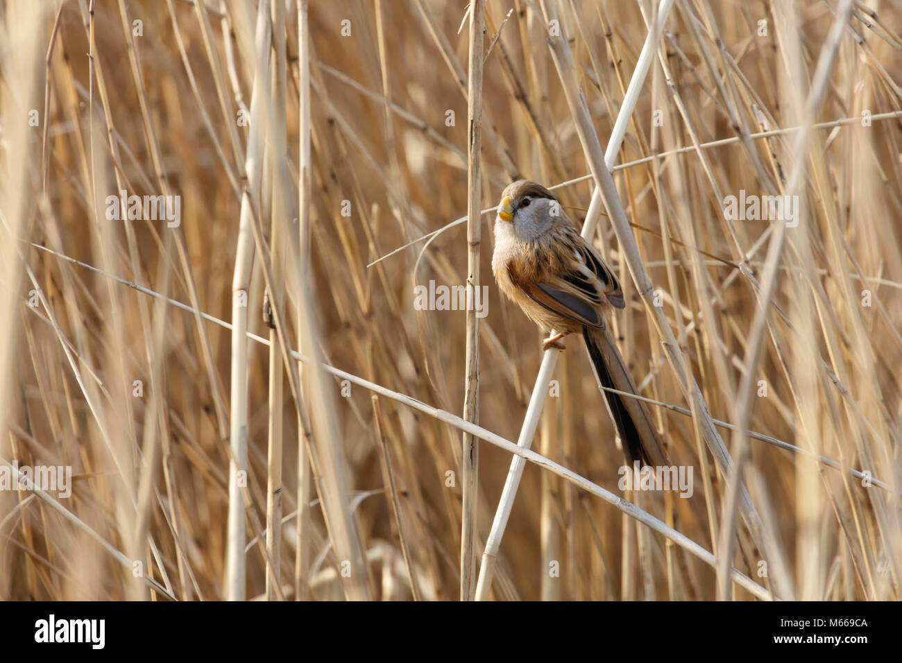
<path id="1" fill-rule="evenodd" d="M 567 38 L 604 145 L 655 12 L 486 0 L 480 207 L 526 177 L 563 184 L 582 223 L 594 182 L 549 35 Z M 65 499 L 0 491 L 0 597 L 459 598 L 461 430 L 287 348 L 464 411 L 465 313 L 418 310 L 414 288 L 465 283 L 465 223 L 368 264 L 466 216 L 465 13 L 437 0 L 5 2 L 0 468 L 69 465 L 73 485 Z M 735 520 L 726 561 L 780 598 L 899 596 L 900 17 L 876 0 L 677 0 L 614 160 L 654 306 L 711 416 L 760 434 L 719 428 L 734 455 L 748 444 L 761 524 Z M 179 226 L 108 219 L 122 190 L 180 197 Z M 800 201 L 759 322 L 779 222 L 725 219 L 741 192 Z M 516 441 L 541 336 L 500 299 L 494 211 L 481 219 L 478 423 Z M 623 284 L 614 325 L 641 392 L 695 409 L 606 216 L 595 245 Z M 280 333 L 262 318 L 267 284 Z M 582 342 L 567 343 L 533 448 L 723 550 L 728 482 L 702 413 L 651 406 L 674 463 L 694 468 L 692 497 L 623 493 L 602 395 Z M 477 559 L 511 464 L 478 447 Z M 528 463 L 489 595 L 712 599 L 715 578 Z"/>

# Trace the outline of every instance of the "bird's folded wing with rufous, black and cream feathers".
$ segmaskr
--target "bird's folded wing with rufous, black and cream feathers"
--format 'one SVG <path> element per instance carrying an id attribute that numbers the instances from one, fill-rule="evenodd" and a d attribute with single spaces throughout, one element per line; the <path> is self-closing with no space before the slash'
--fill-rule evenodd
<path id="1" fill-rule="evenodd" d="M 604 305 L 624 307 L 620 283 L 594 248 L 580 243 L 573 251 L 573 269 L 560 275 L 545 273 L 540 280 L 527 278 L 511 262 L 511 281 L 530 299 L 559 316 L 588 327 L 604 327 Z"/>

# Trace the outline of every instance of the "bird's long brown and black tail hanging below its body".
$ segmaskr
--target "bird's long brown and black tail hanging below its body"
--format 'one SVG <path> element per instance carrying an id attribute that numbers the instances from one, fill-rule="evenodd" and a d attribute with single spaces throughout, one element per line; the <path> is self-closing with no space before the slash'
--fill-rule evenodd
<path id="1" fill-rule="evenodd" d="M 583 338 L 598 383 L 608 389 L 636 393 L 636 385 L 630 378 L 611 330 L 583 327 Z M 604 391 L 604 398 L 608 401 L 630 464 L 638 460 L 643 465 L 669 465 L 667 451 L 645 403 L 611 391 Z"/>

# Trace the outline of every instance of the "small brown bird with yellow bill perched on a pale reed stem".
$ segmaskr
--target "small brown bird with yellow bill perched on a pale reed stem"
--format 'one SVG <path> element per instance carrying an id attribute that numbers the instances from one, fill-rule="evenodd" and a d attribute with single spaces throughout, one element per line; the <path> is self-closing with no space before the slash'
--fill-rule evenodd
<path id="1" fill-rule="evenodd" d="M 518 180 L 502 193 L 495 219 L 492 272 L 498 286 L 529 318 L 555 332 L 544 349 L 582 332 L 595 377 L 609 389 L 636 393 L 605 316 L 623 308 L 617 277 L 545 187 Z M 630 464 L 669 465 L 645 403 L 604 391 Z"/>

